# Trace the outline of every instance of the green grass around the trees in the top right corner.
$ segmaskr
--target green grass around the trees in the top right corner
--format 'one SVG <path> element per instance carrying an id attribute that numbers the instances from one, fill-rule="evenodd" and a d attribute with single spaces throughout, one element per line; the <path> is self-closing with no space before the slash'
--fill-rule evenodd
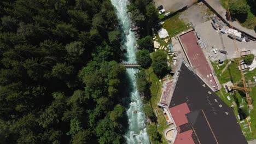
<path id="1" fill-rule="evenodd" d="M 222 4 L 223 8 L 226 9 L 226 2 L 230 0 L 220 0 L 220 4 Z M 237 4 L 239 3 L 247 3 L 246 0 L 237 0 Z M 251 9 L 256 11 L 256 8 L 251 7 Z M 256 27 L 256 16 L 252 13 L 252 11 L 249 11 L 247 17 L 242 20 L 238 20 L 243 27 L 249 28 L 249 29 L 254 29 Z"/>

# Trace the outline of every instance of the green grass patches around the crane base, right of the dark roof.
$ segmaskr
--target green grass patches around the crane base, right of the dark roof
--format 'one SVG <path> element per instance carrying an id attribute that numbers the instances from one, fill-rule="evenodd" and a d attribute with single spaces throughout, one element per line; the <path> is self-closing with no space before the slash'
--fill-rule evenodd
<path id="1" fill-rule="evenodd" d="M 219 74 L 221 74 L 223 68 L 225 67 L 225 65 L 227 63 L 228 63 L 228 61 L 225 61 L 225 64 L 220 66 L 219 69 L 218 69 L 217 68 L 217 63 L 212 62 L 213 68 L 216 71 L 216 74 L 218 76 L 218 79 L 219 79 L 220 83 L 223 84 L 223 83 L 228 82 L 228 81 L 232 81 L 233 83 L 241 82 L 241 73 L 237 68 L 237 62 L 236 61 L 232 62 L 229 65 L 228 69 L 226 69 L 222 75 L 219 75 Z M 249 80 L 252 81 L 253 76 L 254 75 L 256 76 L 256 69 L 254 69 L 253 71 L 249 71 L 249 70 L 244 71 L 244 74 L 245 74 L 245 78 L 246 78 L 247 81 L 249 81 Z M 229 106 L 232 105 L 232 101 L 236 102 L 237 106 L 234 107 L 233 112 L 234 112 L 234 114 L 237 118 L 238 123 L 241 126 L 242 131 L 245 133 L 246 139 L 247 140 L 256 139 L 256 111 L 255 111 L 256 103 L 253 103 L 254 109 L 251 110 L 251 112 L 249 114 L 251 116 L 251 124 L 252 124 L 251 125 L 252 133 L 250 133 L 249 128 L 247 127 L 246 120 L 245 120 L 245 122 L 240 123 L 241 121 L 237 117 L 237 115 L 238 115 L 238 111 L 237 111 L 238 106 L 243 105 L 243 108 L 248 110 L 246 98 L 242 97 L 240 95 L 240 93 L 238 93 L 237 91 L 234 92 L 234 94 L 226 93 L 224 88 L 220 89 L 220 91 L 216 92 L 216 94 L 218 94 L 219 97 Z M 252 97 L 252 99 L 256 100 L 256 87 L 252 88 L 252 92 L 250 92 L 249 95 Z M 228 98 L 227 98 L 228 96 L 231 98 L 231 100 L 228 100 Z"/>

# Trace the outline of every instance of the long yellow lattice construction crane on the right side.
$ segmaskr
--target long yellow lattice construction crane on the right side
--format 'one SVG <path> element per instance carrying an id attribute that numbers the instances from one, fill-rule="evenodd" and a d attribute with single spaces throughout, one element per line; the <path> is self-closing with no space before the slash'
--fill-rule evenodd
<path id="1" fill-rule="evenodd" d="M 237 59 L 238 59 L 238 64 L 239 64 L 238 66 L 240 67 L 242 81 L 243 81 L 243 87 L 233 86 L 232 88 L 237 89 L 239 91 L 245 91 L 248 107 L 249 107 L 250 110 L 252 110 L 253 106 L 252 106 L 252 103 L 251 103 L 251 98 L 249 96 L 249 91 L 251 91 L 251 89 L 246 87 L 245 75 L 243 74 L 242 65 L 241 65 L 241 56 L 240 56 L 240 53 L 238 51 L 238 47 L 237 47 L 237 44 L 236 44 L 235 32 L 234 32 L 234 27 L 233 27 L 232 22 L 231 22 L 231 15 L 230 15 L 230 11 L 229 11 L 229 4 L 228 4 L 228 2 L 226 2 L 226 8 L 227 8 L 228 17 L 229 17 L 229 25 L 230 25 L 230 27 L 233 30 L 234 46 L 235 46 L 235 49 L 236 49 L 236 55 L 238 57 Z"/>

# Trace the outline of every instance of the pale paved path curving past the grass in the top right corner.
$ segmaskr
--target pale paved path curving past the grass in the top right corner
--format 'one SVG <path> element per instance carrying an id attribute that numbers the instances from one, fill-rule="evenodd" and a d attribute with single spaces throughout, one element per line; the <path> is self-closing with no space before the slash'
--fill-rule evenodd
<path id="1" fill-rule="evenodd" d="M 221 15 L 226 21 L 228 21 L 228 16 L 226 16 L 226 9 L 222 7 L 219 0 L 204 0 L 206 3 L 211 5 L 211 7 L 217 11 L 219 15 Z M 228 21 L 229 22 L 229 21 Z M 253 29 L 248 29 L 245 27 L 242 27 L 240 23 L 237 21 L 232 22 L 232 25 L 238 29 L 240 29 L 243 32 L 246 32 L 248 34 L 251 34 L 253 37 L 256 37 L 256 32 Z"/>

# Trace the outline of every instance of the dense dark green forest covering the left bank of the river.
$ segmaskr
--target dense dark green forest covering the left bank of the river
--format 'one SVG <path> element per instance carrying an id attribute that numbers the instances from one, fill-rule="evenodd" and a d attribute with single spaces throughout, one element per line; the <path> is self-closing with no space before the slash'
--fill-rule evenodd
<path id="1" fill-rule="evenodd" d="M 0 1 L 0 143 L 124 143 L 109 0 Z"/>

